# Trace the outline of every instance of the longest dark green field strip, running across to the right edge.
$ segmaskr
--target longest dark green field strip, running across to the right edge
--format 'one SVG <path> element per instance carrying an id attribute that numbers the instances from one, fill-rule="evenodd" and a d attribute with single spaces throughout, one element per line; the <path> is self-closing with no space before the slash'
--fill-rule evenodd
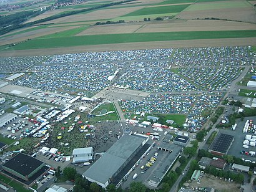
<path id="1" fill-rule="evenodd" d="M 125 42 L 174 41 L 189 39 L 219 39 L 237 37 L 256 37 L 256 30 L 248 31 L 182 31 L 145 32 L 137 34 L 104 34 L 91 36 L 59 37 L 51 39 L 32 39 L 12 46 L 7 50 L 44 49 L 54 47 L 88 46 L 116 44 Z"/>

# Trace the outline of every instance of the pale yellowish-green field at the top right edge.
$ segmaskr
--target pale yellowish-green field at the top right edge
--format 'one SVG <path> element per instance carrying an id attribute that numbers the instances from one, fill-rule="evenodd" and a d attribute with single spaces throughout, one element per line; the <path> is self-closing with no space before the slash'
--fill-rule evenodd
<path id="1" fill-rule="evenodd" d="M 211 10 L 211 9 L 232 9 L 248 7 L 247 1 L 230 1 L 227 2 L 209 2 L 209 3 L 196 3 L 189 6 L 186 11 L 200 11 L 200 10 Z"/>

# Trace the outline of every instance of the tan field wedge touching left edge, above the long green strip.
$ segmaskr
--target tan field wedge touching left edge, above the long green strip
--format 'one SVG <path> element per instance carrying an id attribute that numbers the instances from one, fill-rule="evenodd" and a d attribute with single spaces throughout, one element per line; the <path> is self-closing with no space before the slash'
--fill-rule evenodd
<path id="1" fill-rule="evenodd" d="M 69 29 L 74 29 L 79 26 L 69 26 L 69 27 L 50 27 L 50 28 L 44 28 L 44 29 L 38 29 L 34 31 L 28 31 L 21 34 L 16 34 L 14 36 L 4 37 L 0 39 L 0 46 L 6 45 L 6 44 L 12 44 L 17 43 L 21 41 L 26 41 L 27 39 L 33 39 L 40 36 L 46 36 L 49 34 L 53 34 L 55 32 L 65 31 Z"/>

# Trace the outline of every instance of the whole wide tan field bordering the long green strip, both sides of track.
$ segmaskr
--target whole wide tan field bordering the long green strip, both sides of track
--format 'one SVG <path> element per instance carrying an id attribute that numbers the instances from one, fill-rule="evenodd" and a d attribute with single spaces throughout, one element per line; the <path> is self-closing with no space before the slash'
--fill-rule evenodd
<path id="1" fill-rule="evenodd" d="M 142 24 L 112 24 L 105 26 L 92 26 L 82 31 L 77 36 L 92 34 L 122 34 L 139 32 L 175 32 L 175 31 L 232 31 L 232 30 L 255 30 L 255 24 L 218 21 L 218 20 L 189 20 L 189 21 L 166 21 L 166 22 L 142 22 Z"/>

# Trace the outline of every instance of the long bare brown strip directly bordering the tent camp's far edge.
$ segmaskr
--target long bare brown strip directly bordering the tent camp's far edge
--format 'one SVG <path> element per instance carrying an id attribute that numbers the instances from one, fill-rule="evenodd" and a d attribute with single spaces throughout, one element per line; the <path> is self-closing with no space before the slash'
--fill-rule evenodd
<path id="1" fill-rule="evenodd" d="M 0 57 L 14 57 L 19 55 L 52 55 L 68 54 L 79 52 L 98 52 L 106 50 L 138 50 L 138 49 L 164 49 L 179 47 L 221 47 L 221 46 L 255 46 L 256 37 L 236 38 L 236 39 L 199 39 L 182 41 L 155 41 L 155 42 L 136 42 L 124 44 L 103 44 L 97 46 L 77 46 L 61 47 L 52 49 L 32 49 L 0 51 Z"/>

